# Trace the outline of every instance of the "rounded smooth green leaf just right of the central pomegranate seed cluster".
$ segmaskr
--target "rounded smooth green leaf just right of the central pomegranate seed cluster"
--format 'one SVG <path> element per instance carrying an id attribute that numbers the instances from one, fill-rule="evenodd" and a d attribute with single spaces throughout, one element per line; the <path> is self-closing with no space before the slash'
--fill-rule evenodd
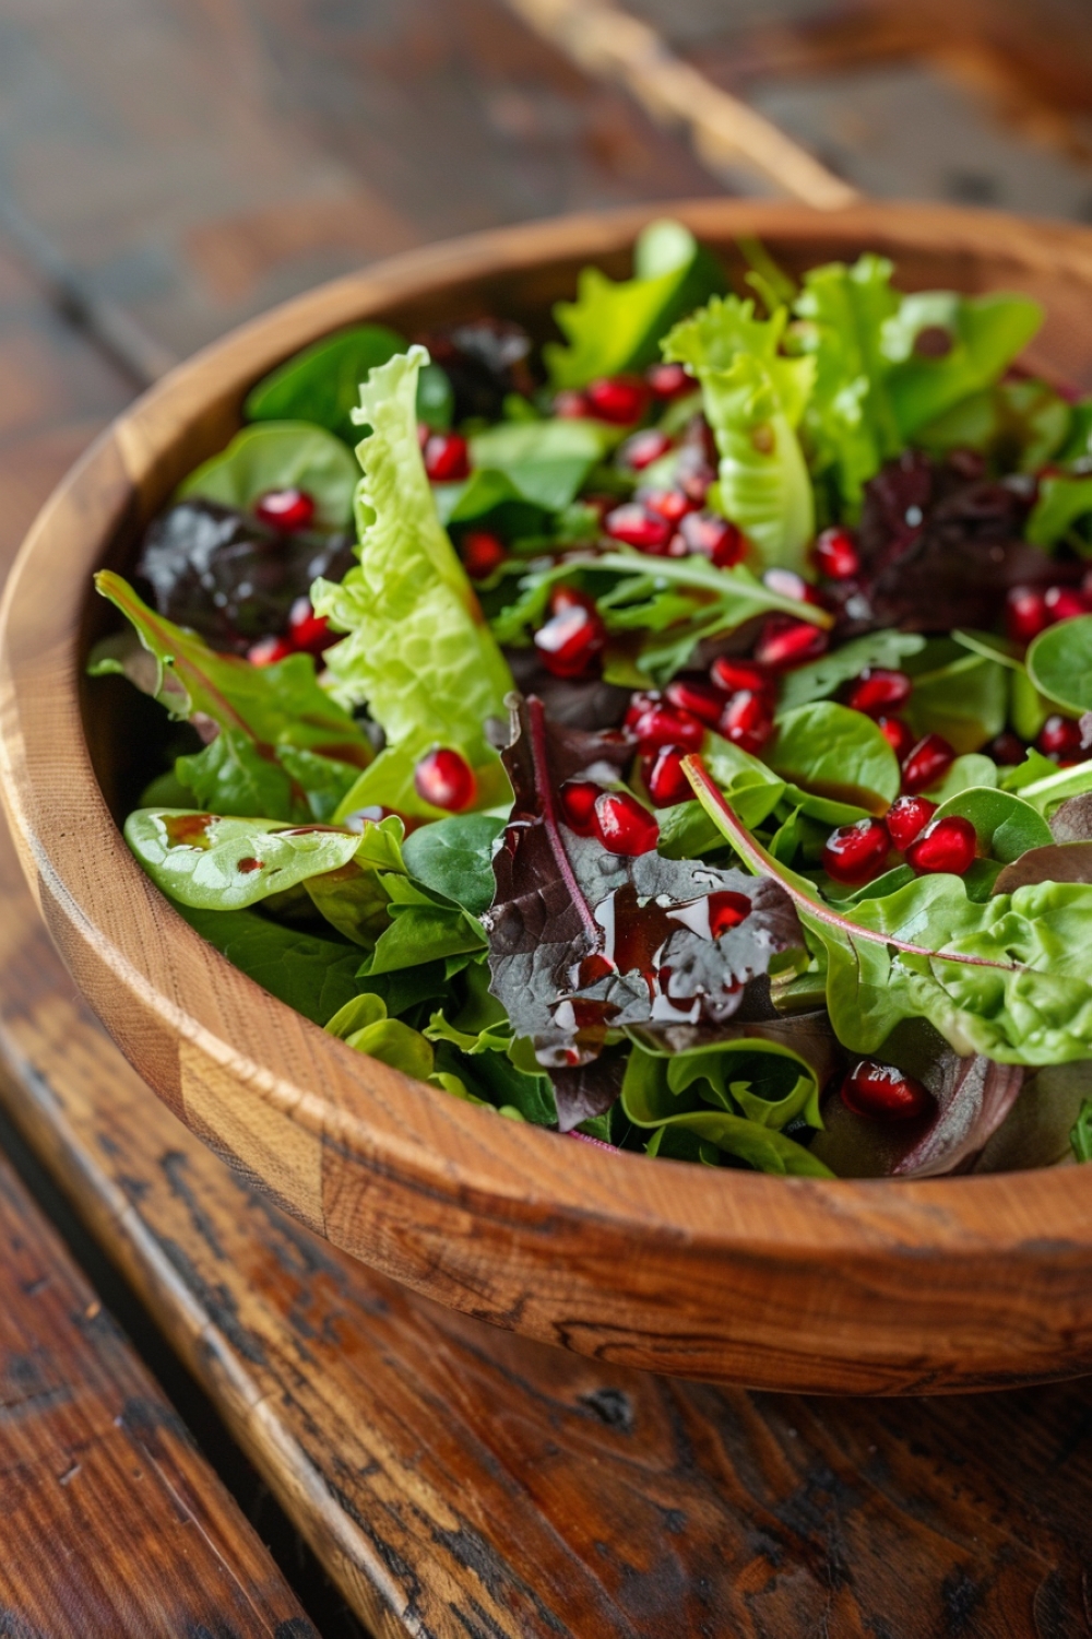
<path id="1" fill-rule="evenodd" d="M 868 813 L 886 813 L 899 795 L 891 742 L 863 711 L 832 700 L 786 711 L 768 756 L 781 779 Z"/>

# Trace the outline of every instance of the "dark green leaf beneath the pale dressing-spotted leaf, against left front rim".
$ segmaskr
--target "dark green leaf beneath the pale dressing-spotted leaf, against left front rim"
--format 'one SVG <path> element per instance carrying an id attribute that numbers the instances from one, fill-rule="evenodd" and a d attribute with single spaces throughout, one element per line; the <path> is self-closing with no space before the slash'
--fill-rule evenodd
<path id="1" fill-rule="evenodd" d="M 257 911 L 175 908 L 232 967 L 313 1024 L 326 1024 L 360 988 L 360 952 L 352 946 L 283 928 Z"/>

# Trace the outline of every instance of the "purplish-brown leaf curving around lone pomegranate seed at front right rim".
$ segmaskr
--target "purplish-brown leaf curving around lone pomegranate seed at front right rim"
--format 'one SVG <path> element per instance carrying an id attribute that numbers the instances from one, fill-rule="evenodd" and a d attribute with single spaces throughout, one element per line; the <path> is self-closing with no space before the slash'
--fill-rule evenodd
<path id="1" fill-rule="evenodd" d="M 963 1170 L 1012 1110 L 1025 1070 L 977 1054 L 961 1059 L 925 1019 L 907 1019 L 878 1054 L 933 1095 L 914 1121 L 855 1115 L 835 1078 L 822 1106 L 824 1131 L 812 1152 L 840 1178 L 936 1178 Z"/>

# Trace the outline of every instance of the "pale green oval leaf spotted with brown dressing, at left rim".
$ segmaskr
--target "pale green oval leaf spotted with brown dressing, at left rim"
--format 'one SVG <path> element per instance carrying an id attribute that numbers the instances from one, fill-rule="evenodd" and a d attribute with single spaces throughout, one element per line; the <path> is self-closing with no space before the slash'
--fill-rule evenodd
<path id="1" fill-rule="evenodd" d="M 349 864 L 359 838 L 187 808 L 134 808 L 124 839 L 157 888 L 196 910 L 234 911 Z"/>

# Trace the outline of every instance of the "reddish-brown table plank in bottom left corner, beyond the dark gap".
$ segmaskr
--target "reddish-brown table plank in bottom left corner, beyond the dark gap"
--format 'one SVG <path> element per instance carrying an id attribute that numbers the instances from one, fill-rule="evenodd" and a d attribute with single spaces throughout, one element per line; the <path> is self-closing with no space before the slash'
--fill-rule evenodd
<path id="1" fill-rule="evenodd" d="M 0 1632 L 318 1639 L 0 1157 Z"/>

